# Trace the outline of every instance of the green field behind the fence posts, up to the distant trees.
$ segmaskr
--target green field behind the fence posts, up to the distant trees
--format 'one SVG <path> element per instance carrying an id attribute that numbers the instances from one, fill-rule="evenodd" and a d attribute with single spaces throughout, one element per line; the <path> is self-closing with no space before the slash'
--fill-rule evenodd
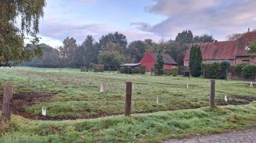
<path id="1" fill-rule="evenodd" d="M 46 106 L 47 117 L 123 114 L 125 82 L 128 81 L 132 82 L 132 113 L 194 109 L 209 105 L 210 79 L 151 76 L 151 73 L 80 72 L 80 69 L 70 68 L 0 68 L 0 73 L 0 96 L 7 85 L 14 86 L 14 92 L 24 96 L 38 92 L 53 95 L 49 102 L 26 107 L 26 111 L 40 115 L 42 106 Z M 248 103 L 244 97 L 255 97 L 255 88 L 250 88 L 250 83 L 223 81 L 216 80 L 216 105 Z M 101 83 L 104 84 L 104 92 L 99 92 Z M 228 97 L 227 103 L 224 101 L 225 95 Z"/>

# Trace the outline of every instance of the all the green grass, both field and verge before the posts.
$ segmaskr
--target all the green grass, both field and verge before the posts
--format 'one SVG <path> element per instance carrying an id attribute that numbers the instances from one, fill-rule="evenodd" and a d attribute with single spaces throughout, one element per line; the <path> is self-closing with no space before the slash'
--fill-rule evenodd
<path id="1" fill-rule="evenodd" d="M 121 114 L 73 121 L 39 121 L 12 115 L 12 121 L 0 125 L 0 142 L 161 142 L 256 126 L 256 102 L 251 102 L 255 88 L 250 88 L 250 83 L 216 80 L 216 105 L 228 106 L 210 109 L 203 107 L 209 106 L 209 79 L 80 72 L 69 68 L 0 68 L 0 73 L 0 89 L 14 86 L 13 107 L 22 107 L 20 101 L 26 101 L 27 114 L 42 117 L 42 106 L 47 109 L 44 119 Z M 127 81 L 132 82 L 131 117 L 123 115 Z M 99 92 L 101 83 L 105 85 L 103 93 Z M 1 100 L 2 94 L 0 90 Z M 225 95 L 228 102 L 224 101 Z M 31 106 L 31 96 L 43 96 L 43 102 Z"/>

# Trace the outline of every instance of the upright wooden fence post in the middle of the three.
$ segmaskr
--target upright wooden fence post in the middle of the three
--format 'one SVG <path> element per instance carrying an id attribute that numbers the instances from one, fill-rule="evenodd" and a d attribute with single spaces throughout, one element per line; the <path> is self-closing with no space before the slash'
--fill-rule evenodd
<path id="1" fill-rule="evenodd" d="M 126 82 L 126 95 L 125 95 L 125 116 L 131 115 L 132 106 L 132 82 Z"/>

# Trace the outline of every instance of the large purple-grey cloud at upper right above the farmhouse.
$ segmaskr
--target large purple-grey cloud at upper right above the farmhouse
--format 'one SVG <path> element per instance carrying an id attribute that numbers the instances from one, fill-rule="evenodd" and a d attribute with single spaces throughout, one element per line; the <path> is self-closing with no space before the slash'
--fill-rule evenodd
<path id="1" fill-rule="evenodd" d="M 144 7 L 144 10 L 168 18 L 156 25 L 145 22 L 131 24 L 139 30 L 163 37 L 175 37 L 182 30 L 189 29 L 194 34 L 217 33 L 213 36 L 224 40 L 227 34 L 246 32 L 248 26 L 255 26 L 255 5 L 254 0 L 155 0 L 153 5 Z"/>

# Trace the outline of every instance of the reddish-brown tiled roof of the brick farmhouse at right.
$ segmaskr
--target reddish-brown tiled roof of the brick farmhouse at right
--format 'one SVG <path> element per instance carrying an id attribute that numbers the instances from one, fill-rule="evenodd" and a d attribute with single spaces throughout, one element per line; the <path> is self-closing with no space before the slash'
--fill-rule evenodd
<path id="1" fill-rule="evenodd" d="M 207 60 L 234 59 L 235 56 L 248 55 L 245 48 L 250 42 L 256 41 L 256 32 L 248 32 L 244 36 L 233 41 L 220 41 L 214 45 L 214 42 L 200 43 L 202 57 Z M 188 48 L 184 60 L 190 59 L 190 49 Z"/>

